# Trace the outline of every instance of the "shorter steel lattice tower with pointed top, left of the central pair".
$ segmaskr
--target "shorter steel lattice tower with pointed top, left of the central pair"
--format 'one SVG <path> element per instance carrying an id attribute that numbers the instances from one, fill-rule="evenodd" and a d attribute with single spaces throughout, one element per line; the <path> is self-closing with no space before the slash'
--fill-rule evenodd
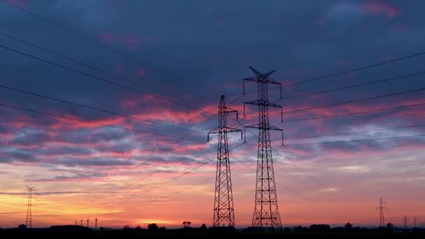
<path id="1" fill-rule="evenodd" d="M 210 140 L 210 133 L 218 133 L 217 173 L 215 174 L 214 217 L 212 219 L 212 225 L 215 227 L 235 227 L 227 133 L 240 132 L 242 138 L 242 131 L 227 126 L 227 115 L 229 113 L 236 113 L 236 118 L 238 118 L 238 111 L 227 108 L 224 98 L 224 96 L 220 98 L 218 106 L 219 126 L 213 131 L 208 132 L 208 141 Z"/>

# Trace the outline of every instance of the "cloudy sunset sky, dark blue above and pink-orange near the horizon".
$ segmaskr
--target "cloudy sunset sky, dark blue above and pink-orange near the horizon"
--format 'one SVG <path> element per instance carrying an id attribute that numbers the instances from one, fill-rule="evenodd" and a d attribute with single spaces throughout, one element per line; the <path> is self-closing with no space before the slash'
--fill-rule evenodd
<path id="1" fill-rule="evenodd" d="M 270 109 L 284 130 L 284 146 L 271 132 L 283 226 L 376 226 L 381 197 L 385 222 L 424 222 L 425 55 L 291 85 L 424 51 L 424 10 L 419 0 L 0 1 L 0 227 L 25 224 L 25 186 L 36 189 L 33 227 L 212 226 L 207 132 L 222 95 L 239 110 L 229 126 L 258 122 L 254 106 L 243 117 L 257 99 L 254 82 L 243 94 L 249 66 L 285 86 L 283 99 L 269 90 L 284 111 L 281 122 Z M 246 143 L 229 133 L 236 227 L 252 222 L 257 133 Z"/>

